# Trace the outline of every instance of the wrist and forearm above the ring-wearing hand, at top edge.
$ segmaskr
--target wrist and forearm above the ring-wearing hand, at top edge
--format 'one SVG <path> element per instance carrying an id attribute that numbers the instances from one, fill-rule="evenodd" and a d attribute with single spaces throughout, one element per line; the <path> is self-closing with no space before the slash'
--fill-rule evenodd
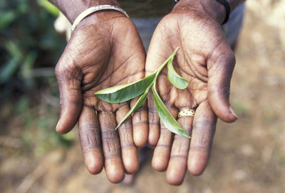
<path id="1" fill-rule="evenodd" d="M 246 0 L 227 0 L 230 6 L 231 12 L 242 4 Z M 195 9 L 200 10 L 202 13 L 206 13 L 208 16 L 213 18 L 218 23 L 222 23 L 226 16 L 224 6 L 215 0 L 180 0 L 174 7 L 173 11 L 179 11 L 183 9 Z"/>

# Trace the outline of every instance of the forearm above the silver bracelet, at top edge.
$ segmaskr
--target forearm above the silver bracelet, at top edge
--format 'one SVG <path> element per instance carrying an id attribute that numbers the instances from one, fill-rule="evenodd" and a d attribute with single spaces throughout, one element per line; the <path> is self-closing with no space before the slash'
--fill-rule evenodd
<path id="1" fill-rule="evenodd" d="M 76 17 L 91 6 L 103 4 L 119 6 L 114 0 L 49 0 L 52 4 L 58 7 L 71 23 Z"/>

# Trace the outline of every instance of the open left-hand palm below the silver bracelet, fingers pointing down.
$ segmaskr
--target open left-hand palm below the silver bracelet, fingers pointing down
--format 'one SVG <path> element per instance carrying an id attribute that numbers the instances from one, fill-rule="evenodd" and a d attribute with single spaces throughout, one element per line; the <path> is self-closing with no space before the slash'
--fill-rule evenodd
<path id="1" fill-rule="evenodd" d="M 98 174 L 105 167 L 110 182 L 138 171 L 138 148 L 147 142 L 147 111 L 114 128 L 130 104 L 108 104 L 94 92 L 145 76 L 145 50 L 129 18 L 118 11 L 98 11 L 79 23 L 56 65 L 61 94 L 58 133 L 78 121 L 86 167 Z M 134 135 L 134 140 L 133 140 Z"/>

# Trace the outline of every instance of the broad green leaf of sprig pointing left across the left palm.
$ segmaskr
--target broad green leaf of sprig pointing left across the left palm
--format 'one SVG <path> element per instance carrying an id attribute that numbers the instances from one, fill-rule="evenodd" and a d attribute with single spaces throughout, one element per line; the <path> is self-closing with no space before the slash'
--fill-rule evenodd
<path id="1" fill-rule="evenodd" d="M 150 84 L 152 84 L 153 79 L 155 79 L 155 74 L 149 75 L 130 84 L 102 89 L 95 92 L 95 95 L 108 103 L 121 103 L 133 99 L 145 92 L 147 87 L 150 87 Z"/>

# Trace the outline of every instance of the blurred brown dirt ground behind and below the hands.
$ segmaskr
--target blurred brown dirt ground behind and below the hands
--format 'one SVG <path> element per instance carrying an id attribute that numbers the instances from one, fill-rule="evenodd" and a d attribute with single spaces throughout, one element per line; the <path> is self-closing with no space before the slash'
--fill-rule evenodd
<path id="1" fill-rule="evenodd" d="M 50 90 L 44 89 L 41 103 L 29 110 L 40 121 L 31 121 L 28 133 L 23 129 L 28 112 L 11 117 L 13 102 L 1 106 L 1 192 L 284 192 L 284 10 L 281 0 L 247 2 L 231 92 L 239 120 L 218 123 L 203 175 L 187 174 L 180 187 L 173 187 L 165 182 L 164 172 L 152 170 L 150 160 L 130 187 L 111 184 L 104 172 L 90 175 L 83 165 L 76 129 L 65 138 L 73 145 L 48 148 L 41 144 L 50 140 L 47 133 L 54 132 L 58 116 L 58 99 L 47 99 Z M 38 125 L 44 124 L 51 129 L 42 134 Z"/>

